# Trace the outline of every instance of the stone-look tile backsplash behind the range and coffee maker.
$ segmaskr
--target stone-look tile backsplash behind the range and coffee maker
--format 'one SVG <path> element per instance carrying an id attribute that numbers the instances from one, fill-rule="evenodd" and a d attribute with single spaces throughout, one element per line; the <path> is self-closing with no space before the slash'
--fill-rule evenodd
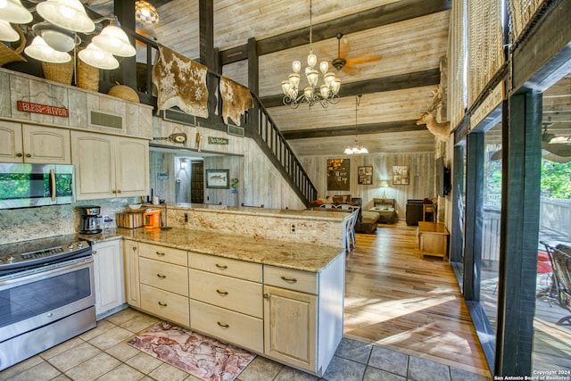
<path id="1" fill-rule="evenodd" d="M 35 208 L 0 210 L 0 244 L 27 241 L 46 236 L 74 234 L 79 231 L 79 206 L 97 205 L 101 215 L 113 221 L 105 227 L 115 226 L 115 213 L 126 211 L 129 198 L 87 200 L 67 205 L 39 206 Z"/>

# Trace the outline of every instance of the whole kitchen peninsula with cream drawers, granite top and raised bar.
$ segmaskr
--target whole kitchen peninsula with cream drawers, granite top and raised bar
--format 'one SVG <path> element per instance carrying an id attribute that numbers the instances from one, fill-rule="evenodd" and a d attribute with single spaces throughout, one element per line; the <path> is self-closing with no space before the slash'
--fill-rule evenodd
<path id="1" fill-rule="evenodd" d="M 317 225 L 342 236 L 349 213 L 165 209 L 169 228 L 108 228 L 86 236 L 95 247 L 122 238 L 128 304 L 322 376 L 343 337 L 345 256 L 341 241 L 328 244 L 321 236 L 317 242 L 305 232 Z M 270 226 L 292 238 L 270 238 L 276 234 Z"/>

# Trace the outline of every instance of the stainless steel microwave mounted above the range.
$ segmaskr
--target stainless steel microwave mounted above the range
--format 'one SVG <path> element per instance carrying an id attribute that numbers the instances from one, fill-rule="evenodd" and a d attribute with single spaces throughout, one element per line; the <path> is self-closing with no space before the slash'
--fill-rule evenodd
<path id="1" fill-rule="evenodd" d="M 0 209 L 74 201 L 73 165 L 0 163 Z"/>

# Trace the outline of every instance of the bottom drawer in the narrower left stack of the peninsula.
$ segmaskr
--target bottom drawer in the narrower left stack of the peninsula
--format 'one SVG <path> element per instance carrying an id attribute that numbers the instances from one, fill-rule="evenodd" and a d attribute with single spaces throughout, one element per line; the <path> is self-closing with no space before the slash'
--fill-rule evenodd
<path id="1" fill-rule="evenodd" d="M 141 309 L 152 315 L 188 327 L 188 298 L 141 285 Z"/>

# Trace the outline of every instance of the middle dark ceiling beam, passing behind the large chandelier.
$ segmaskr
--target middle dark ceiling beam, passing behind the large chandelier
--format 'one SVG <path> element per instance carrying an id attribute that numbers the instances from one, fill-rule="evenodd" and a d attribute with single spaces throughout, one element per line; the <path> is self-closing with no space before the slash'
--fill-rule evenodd
<path id="1" fill-rule="evenodd" d="M 384 91 L 401 90 L 432 86 L 440 84 L 440 69 L 423 70 L 414 73 L 400 74 L 378 79 L 361 80 L 341 85 L 339 96 L 354 96 L 360 94 L 381 93 Z M 283 94 L 263 96 L 260 98 L 264 107 L 283 106 Z"/>

